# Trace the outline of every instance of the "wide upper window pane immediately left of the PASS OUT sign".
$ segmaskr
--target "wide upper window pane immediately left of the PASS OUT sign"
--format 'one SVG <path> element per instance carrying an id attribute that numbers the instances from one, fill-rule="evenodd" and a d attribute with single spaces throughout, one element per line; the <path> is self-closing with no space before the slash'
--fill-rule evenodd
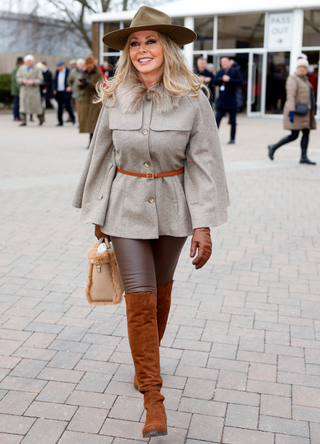
<path id="1" fill-rule="evenodd" d="M 264 14 L 218 18 L 218 49 L 262 48 Z"/>

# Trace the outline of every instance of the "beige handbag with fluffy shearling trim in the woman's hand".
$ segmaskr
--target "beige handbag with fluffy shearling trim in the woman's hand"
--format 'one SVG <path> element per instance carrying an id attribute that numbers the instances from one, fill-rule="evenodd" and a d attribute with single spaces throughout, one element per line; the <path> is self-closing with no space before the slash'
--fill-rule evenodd
<path id="1" fill-rule="evenodd" d="M 106 251 L 99 253 L 105 243 Z M 95 242 L 87 253 L 89 259 L 86 298 L 91 305 L 120 304 L 124 292 L 116 255 L 107 238 Z"/>

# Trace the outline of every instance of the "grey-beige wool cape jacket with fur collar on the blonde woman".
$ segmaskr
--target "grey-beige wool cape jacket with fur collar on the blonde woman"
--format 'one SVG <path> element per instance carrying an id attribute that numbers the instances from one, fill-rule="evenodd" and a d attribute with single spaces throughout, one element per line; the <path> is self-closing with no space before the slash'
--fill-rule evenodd
<path id="1" fill-rule="evenodd" d="M 118 173 L 185 168 L 184 174 L 147 179 Z M 103 107 L 73 205 L 84 223 L 111 236 L 182 237 L 227 220 L 228 190 L 218 131 L 209 102 L 173 97 L 162 82 L 119 87 Z"/>

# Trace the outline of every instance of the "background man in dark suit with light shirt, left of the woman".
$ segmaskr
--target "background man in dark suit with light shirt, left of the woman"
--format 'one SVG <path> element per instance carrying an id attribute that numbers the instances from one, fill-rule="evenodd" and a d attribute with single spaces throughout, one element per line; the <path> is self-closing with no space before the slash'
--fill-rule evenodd
<path id="1" fill-rule="evenodd" d="M 67 91 L 68 88 L 68 75 L 70 69 L 68 69 L 64 61 L 57 62 L 57 71 L 53 81 L 53 94 L 58 102 L 58 124 L 56 126 L 63 126 L 62 114 L 65 107 L 69 113 L 69 119 L 67 122 L 75 124 L 76 119 L 71 107 L 71 92 Z"/>

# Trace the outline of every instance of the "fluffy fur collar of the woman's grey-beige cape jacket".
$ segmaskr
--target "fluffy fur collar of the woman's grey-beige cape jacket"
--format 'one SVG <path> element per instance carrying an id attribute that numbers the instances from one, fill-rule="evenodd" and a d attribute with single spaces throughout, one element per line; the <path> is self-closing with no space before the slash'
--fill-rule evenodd
<path id="1" fill-rule="evenodd" d="M 178 106 L 179 96 L 170 94 L 162 79 L 146 88 L 135 71 L 131 71 L 125 82 L 117 88 L 116 100 L 119 101 L 123 112 L 134 113 L 141 110 L 146 95 L 152 96 L 160 113 L 169 113 Z"/>

